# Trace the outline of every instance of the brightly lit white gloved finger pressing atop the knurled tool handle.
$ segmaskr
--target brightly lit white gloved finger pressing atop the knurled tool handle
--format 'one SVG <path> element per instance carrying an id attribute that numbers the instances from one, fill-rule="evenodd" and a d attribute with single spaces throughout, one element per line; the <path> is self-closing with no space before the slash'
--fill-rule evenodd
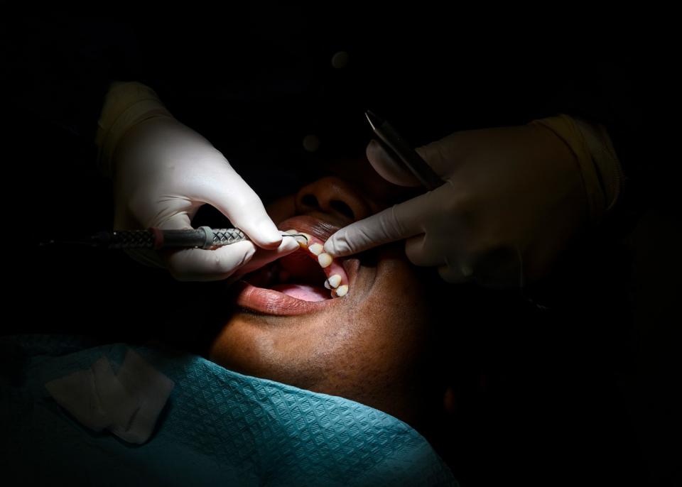
<path id="1" fill-rule="evenodd" d="M 201 197 L 220 210 L 234 226 L 263 248 L 278 248 L 281 233 L 272 222 L 261 199 L 229 165 L 217 177 L 203 182 Z"/>

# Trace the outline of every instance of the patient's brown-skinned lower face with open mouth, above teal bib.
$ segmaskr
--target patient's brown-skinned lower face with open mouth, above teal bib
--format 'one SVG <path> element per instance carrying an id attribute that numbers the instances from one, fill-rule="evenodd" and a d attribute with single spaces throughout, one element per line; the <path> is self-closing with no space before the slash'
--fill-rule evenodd
<path id="1" fill-rule="evenodd" d="M 324 243 L 381 206 L 326 177 L 268 210 L 279 229 Z M 338 259 L 325 273 L 315 256 L 320 247 L 308 245 L 246 275 L 232 286 L 237 310 L 213 341 L 210 359 L 411 420 L 420 406 L 416 384 L 429 319 L 425 290 L 402 248 Z M 328 285 L 347 285 L 342 297 L 324 287 L 334 274 L 339 278 Z"/>

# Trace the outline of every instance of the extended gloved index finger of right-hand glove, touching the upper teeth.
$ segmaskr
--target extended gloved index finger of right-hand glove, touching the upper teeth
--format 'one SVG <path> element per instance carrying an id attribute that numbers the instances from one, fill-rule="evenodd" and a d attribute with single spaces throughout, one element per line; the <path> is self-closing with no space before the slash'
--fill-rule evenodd
<path id="1" fill-rule="evenodd" d="M 439 187 L 345 226 L 325 242 L 325 252 L 336 257 L 349 256 L 384 243 L 423 234 L 424 215 L 440 211 L 438 207 L 432 208 L 432 203 L 438 200 L 444 190 L 447 188 Z"/>

